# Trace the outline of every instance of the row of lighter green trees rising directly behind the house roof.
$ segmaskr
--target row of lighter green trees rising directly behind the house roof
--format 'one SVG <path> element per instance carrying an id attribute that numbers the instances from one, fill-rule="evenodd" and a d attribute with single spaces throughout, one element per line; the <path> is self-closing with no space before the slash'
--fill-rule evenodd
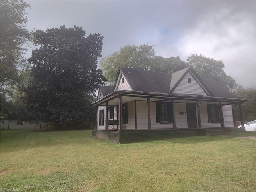
<path id="1" fill-rule="evenodd" d="M 127 45 L 102 58 L 100 68 L 110 85 L 114 84 L 119 67 L 174 73 L 188 66 L 192 66 L 200 77 L 213 78 L 228 90 L 235 89 L 238 85 L 236 80 L 224 72 L 225 65 L 222 60 L 192 54 L 185 62 L 179 56 L 164 58 L 155 54 L 154 47 L 145 43 L 138 46 Z"/>

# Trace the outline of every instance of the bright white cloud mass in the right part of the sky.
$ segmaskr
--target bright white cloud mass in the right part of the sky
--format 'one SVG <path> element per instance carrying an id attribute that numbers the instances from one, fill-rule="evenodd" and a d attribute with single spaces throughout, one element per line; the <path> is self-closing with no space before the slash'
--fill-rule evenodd
<path id="1" fill-rule="evenodd" d="M 223 60 L 228 75 L 244 86 L 256 87 L 255 10 L 249 11 L 251 4 L 240 5 L 216 6 L 200 14 L 194 27 L 183 30 L 175 45 L 163 44 L 158 53 L 178 55 L 183 60 L 191 54 Z"/>

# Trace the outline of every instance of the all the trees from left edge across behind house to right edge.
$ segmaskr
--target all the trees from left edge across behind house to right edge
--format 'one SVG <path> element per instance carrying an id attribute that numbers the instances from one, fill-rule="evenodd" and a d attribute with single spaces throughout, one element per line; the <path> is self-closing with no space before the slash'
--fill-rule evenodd
<path id="1" fill-rule="evenodd" d="M 100 60 L 103 36 L 86 36 L 82 27 L 26 30 L 23 1 L 1 1 L 1 116 L 24 114 L 30 122 L 52 122 L 56 127 L 90 125 L 99 85 L 113 85 L 119 67 L 173 73 L 192 66 L 200 77 L 213 78 L 238 98 L 249 100 L 244 106 L 245 120 L 254 120 L 255 88 L 244 88 L 224 72 L 222 60 L 192 54 L 186 62 L 179 56 L 156 56 L 148 44 L 128 45 Z M 28 43 L 39 45 L 26 60 Z M 238 110 L 236 110 L 238 114 Z M 239 120 L 239 116 L 235 115 Z"/>

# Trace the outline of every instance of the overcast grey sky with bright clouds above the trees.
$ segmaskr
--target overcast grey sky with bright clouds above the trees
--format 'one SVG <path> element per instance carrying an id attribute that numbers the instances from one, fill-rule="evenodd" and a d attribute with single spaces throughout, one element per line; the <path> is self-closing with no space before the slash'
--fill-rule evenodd
<path id="1" fill-rule="evenodd" d="M 28 30 L 82 27 L 104 36 L 102 55 L 154 45 L 157 56 L 203 54 L 256 87 L 256 1 L 26 1 Z M 28 52 L 30 56 L 31 52 Z"/>

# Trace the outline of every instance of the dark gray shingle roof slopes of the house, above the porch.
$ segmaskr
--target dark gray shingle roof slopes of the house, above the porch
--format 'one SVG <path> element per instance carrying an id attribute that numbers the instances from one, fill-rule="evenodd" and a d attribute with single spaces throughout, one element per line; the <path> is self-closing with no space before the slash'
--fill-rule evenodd
<path id="1" fill-rule="evenodd" d="M 179 82 L 180 78 L 182 78 L 182 76 L 188 70 L 190 70 L 190 67 L 175 72 L 173 74 L 122 67 L 120 68 L 120 70 L 130 84 L 132 90 L 134 91 L 170 93 L 170 90 L 172 90 L 172 88 L 174 88 L 174 86 Z M 236 98 L 228 90 L 218 84 L 214 79 L 200 78 L 197 74 L 196 76 L 199 78 L 200 82 L 202 82 L 202 84 L 206 86 L 206 90 L 209 90 L 211 94 L 213 94 L 212 96 L 223 98 Z M 106 96 L 113 92 L 113 87 L 110 86 L 100 86 L 100 88 L 102 90 L 103 96 Z"/>

